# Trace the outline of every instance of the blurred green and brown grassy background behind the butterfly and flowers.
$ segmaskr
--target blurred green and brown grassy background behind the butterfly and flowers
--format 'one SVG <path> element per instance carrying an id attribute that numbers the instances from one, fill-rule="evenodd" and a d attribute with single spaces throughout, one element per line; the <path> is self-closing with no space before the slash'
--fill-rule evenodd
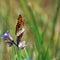
<path id="1" fill-rule="evenodd" d="M 0 0 L 0 36 L 10 30 L 16 41 L 19 14 L 27 46 L 18 50 L 0 38 L 0 60 L 60 60 L 60 0 Z"/>

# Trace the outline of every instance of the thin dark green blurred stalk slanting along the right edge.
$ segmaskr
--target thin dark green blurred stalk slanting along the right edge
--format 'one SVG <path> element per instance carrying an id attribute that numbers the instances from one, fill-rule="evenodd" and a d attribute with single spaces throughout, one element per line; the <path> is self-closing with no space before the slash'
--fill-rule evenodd
<path id="1" fill-rule="evenodd" d="M 56 8 L 56 13 L 54 14 L 54 18 L 53 18 L 53 25 L 52 25 L 52 34 L 51 34 L 51 41 L 50 44 L 53 44 L 53 38 L 54 38 L 54 34 L 55 34 L 55 27 L 56 27 L 56 23 L 57 23 L 57 18 L 58 18 L 58 14 L 59 14 L 59 7 L 60 7 L 60 0 L 58 0 L 58 5 Z"/>

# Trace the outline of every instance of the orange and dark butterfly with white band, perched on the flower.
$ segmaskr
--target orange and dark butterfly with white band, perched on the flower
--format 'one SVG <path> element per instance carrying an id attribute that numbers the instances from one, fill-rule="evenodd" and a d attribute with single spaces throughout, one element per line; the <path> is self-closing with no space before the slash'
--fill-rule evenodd
<path id="1" fill-rule="evenodd" d="M 16 40 L 17 40 L 17 47 L 19 47 L 19 44 L 21 42 L 21 38 L 24 34 L 24 31 L 25 29 L 23 28 L 24 26 L 24 21 L 22 19 L 22 16 L 19 15 L 18 19 L 17 19 L 17 25 L 16 25 L 16 31 L 15 31 L 15 34 L 16 34 Z"/>

